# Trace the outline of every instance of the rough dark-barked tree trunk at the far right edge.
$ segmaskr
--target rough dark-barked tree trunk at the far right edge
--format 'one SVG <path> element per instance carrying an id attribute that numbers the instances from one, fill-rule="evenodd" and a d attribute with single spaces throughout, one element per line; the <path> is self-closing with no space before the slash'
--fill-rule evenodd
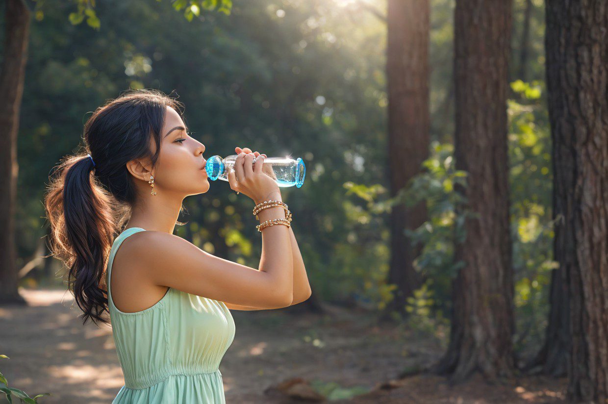
<path id="1" fill-rule="evenodd" d="M 568 400 L 608 399 L 608 8 L 547 2 L 555 259 L 570 305 Z"/>

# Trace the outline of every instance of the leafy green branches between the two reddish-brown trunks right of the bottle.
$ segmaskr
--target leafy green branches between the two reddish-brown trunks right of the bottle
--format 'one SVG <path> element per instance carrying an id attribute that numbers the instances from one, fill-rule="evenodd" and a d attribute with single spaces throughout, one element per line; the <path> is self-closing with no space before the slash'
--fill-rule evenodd
<path id="1" fill-rule="evenodd" d="M 422 245 L 421 254 L 413 262 L 415 269 L 423 273 L 424 278 L 432 279 L 416 292 L 407 307 L 416 315 L 430 315 L 431 308 L 437 314 L 448 309 L 451 280 L 463 265 L 454 261 L 454 243 L 465 238 L 465 218 L 475 216 L 465 209 L 463 192 L 456 191 L 457 187 L 466 187 L 466 173 L 455 169 L 453 152 L 454 147 L 449 143 L 432 142 L 430 156 L 422 163 L 421 173 L 392 198 L 379 198 L 385 193 L 380 185 L 345 184 L 348 193 L 367 201 L 370 214 L 390 211 L 397 204 L 426 205 L 429 220 L 415 230 L 404 229 L 413 247 Z M 393 290 L 395 285 L 384 287 L 384 290 Z M 424 295 L 435 298 L 424 299 Z M 384 303 L 379 307 L 384 307 Z"/>

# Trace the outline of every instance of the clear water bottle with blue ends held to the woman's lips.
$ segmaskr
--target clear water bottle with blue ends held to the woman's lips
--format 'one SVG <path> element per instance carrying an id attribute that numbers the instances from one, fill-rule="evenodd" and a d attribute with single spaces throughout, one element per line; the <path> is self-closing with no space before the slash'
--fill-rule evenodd
<path id="1" fill-rule="evenodd" d="M 234 168 L 237 157 L 236 154 L 232 154 L 226 157 L 226 159 L 222 159 L 219 156 L 209 157 L 205 166 L 209 179 L 215 181 L 219 178 L 228 181 L 228 173 Z M 255 163 L 256 159 L 257 157 L 254 157 L 253 163 Z M 297 160 L 289 159 L 289 157 L 266 157 L 262 170 L 268 173 L 269 170 L 267 168 L 272 169 L 274 180 L 279 187 L 293 187 L 295 185 L 297 188 L 300 188 L 304 183 L 306 166 L 304 165 L 304 160 L 300 159 L 300 157 Z"/>

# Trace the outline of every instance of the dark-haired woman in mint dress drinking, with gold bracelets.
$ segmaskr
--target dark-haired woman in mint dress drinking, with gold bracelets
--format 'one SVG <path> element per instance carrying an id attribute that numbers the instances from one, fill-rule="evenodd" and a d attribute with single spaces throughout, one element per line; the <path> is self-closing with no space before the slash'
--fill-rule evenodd
<path id="1" fill-rule="evenodd" d="M 235 335 L 229 309 L 310 295 L 291 213 L 272 170 L 262 171 L 265 154 L 235 148 L 229 174 L 232 190 L 261 204 L 259 270 L 173 235 L 184 197 L 209 190 L 205 146 L 187 134 L 181 106 L 156 90 L 108 101 L 85 124 L 88 154 L 62 159 L 44 198 L 83 323 L 112 325 L 125 376 L 112 403 L 224 403 L 218 367 Z"/>

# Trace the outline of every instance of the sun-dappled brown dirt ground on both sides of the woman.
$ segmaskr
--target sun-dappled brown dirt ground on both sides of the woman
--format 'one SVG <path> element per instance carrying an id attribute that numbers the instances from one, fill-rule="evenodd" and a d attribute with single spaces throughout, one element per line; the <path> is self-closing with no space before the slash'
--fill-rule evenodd
<path id="1" fill-rule="evenodd" d="M 30 397 L 50 392 L 40 399 L 46 404 L 111 403 L 124 383 L 111 328 L 83 326 L 66 290 L 20 291 L 28 307 L 0 307 L 0 354 L 10 358 L 0 359 L 0 371 L 9 386 Z M 563 379 L 525 377 L 488 385 L 473 377 L 457 386 L 427 374 L 399 379 L 405 369 L 440 357 L 435 338 L 378 326 L 355 310 L 328 306 L 324 315 L 303 315 L 295 309 L 232 311 L 235 340 L 219 367 L 228 404 L 301 403 L 278 391 L 285 389 L 272 388 L 289 380 L 291 394 L 311 395 L 309 383 L 333 394 L 326 401 L 336 403 L 564 402 Z M 333 400 L 356 388 L 368 392 Z"/>

